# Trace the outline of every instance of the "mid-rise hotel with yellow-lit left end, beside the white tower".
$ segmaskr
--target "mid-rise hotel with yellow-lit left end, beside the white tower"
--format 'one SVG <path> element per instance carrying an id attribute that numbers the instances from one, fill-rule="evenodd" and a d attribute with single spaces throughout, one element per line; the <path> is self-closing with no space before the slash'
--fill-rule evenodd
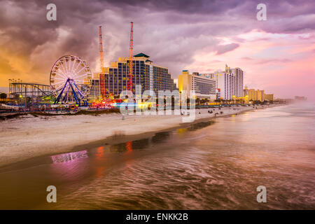
<path id="1" fill-rule="evenodd" d="M 216 80 L 209 75 L 198 72 L 190 74 L 188 70 L 183 70 L 178 77 L 178 83 L 180 93 L 186 90 L 190 94 L 193 90 L 198 98 L 216 99 Z"/>

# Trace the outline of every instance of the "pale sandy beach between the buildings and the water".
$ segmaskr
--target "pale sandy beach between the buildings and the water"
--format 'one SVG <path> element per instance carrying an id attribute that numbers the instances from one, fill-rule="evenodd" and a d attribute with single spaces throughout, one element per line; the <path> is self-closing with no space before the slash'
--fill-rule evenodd
<path id="1" fill-rule="evenodd" d="M 109 142 L 119 144 L 125 141 L 139 140 L 151 137 L 157 132 L 172 131 L 181 127 L 189 127 L 195 123 L 214 120 L 214 118 L 268 109 L 274 106 L 284 105 L 257 106 L 257 109 L 253 109 L 252 106 L 250 108 L 234 107 L 237 109 L 235 111 L 232 110 L 232 107 L 216 109 L 214 113 L 223 111 L 223 114 L 218 114 L 216 117 L 214 113 L 207 112 L 211 109 L 196 109 L 195 120 L 190 123 L 183 123 L 181 121 L 183 116 L 174 115 L 132 115 L 125 116 L 125 120 L 122 120 L 120 113 L 101 116 L 73 116 L 71 118 L 52 116 L 49 118 L 25 117 L 7 120 L 0 123 L 0 168 L 43 156 L 88 150 L 109 144 Z M 22 123 L 23 121 L 24 123 Z M 62 131 L 59 130 L 60 128 Z M 18 138 L 14 137 L 15 133 L 18 137 L 20 136 L 20 139 L 15 139 Z M 45 137 L 45 135 L 48 136 Z"/>

